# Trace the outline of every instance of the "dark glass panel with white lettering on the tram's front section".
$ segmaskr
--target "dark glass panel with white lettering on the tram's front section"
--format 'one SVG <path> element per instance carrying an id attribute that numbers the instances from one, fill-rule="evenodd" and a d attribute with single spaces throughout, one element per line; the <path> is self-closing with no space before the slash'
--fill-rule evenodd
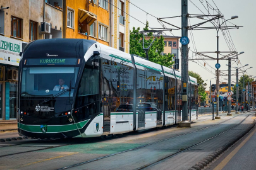
<path id="1" fill-rule="evenodd" d="M 133 67 L 111 60 L 104 60 L 103 63 L 104 82 L 102 83 L 102 94 L 107 97 L 108 101 L 104 103 L 105 110 L 116 112 L 119 110 L 119 106 L 122 107 L 126 104 L 132 107 Z"/>

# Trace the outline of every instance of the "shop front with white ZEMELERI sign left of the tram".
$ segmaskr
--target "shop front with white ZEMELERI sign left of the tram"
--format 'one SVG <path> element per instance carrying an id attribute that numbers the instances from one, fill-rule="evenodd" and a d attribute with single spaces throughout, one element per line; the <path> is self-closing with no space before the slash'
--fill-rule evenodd
<path id="1" fill-rule="evenodd" d="M 17 82 L 20 52 L 27 45 L 0 36 L 0 120 L 17 118 Z"/>

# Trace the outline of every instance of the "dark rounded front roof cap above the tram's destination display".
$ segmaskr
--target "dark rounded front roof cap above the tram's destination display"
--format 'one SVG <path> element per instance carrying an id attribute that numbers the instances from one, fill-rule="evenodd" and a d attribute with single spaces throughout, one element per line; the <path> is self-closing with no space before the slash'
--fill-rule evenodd
<path id="1" fill-rule="evenodd" d="M 23 57 L 83 57 L 94 43 L 94 40 L 71 38 L 35 40 L 25 47 Z"/>

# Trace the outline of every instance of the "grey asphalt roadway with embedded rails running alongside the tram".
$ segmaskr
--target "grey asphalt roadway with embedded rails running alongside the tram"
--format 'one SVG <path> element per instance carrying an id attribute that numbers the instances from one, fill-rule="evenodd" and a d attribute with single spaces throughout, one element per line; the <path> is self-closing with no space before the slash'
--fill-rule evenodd
<path id="1" fill-rule="evenodd" d="M 59 169 L 81 162 L 82 165 L 73 169 L 189 169 L 221 144 L 228 143 L 228 139 L 252 127 L 252 113 L 225 115 L 215 121 L 211 120 L 211 115 L 200 116 L 192 128 L 142 130 L 104 140 L 28 139 L 0 142 L 0 169 Z M 225 130 L 229 133 L 224 133 Z M 0 133 L 0 138 L 1 135 L 3 133 Z M 216 138 L 207 140 L 215 135 Z M 202 144 L 195 145 L 204 140 Z M 195 146 L 185 150 L 192 145 Z M 159 159 L 163 160 L 150 165 Z"/>

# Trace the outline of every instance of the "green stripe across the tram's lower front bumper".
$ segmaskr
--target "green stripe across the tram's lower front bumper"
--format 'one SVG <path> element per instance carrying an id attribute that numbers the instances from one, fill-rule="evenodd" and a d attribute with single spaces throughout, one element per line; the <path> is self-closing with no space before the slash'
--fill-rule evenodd
<path id="1" fill-rule="evenodd" d="M 77 130 L 77 127 L 83 128 L 88 121 L 89 119 L 84 120 L 83 122 L 78 122 L 70 125 L 47 125 L 46 133 L 60 133 L 60 132 L 68 132 L 71 130 Z M 40 129 L 40 125 L 24 125 L 22 123 L 18 123 L 18 127 L 27 132 L 42 133 Z"/>

